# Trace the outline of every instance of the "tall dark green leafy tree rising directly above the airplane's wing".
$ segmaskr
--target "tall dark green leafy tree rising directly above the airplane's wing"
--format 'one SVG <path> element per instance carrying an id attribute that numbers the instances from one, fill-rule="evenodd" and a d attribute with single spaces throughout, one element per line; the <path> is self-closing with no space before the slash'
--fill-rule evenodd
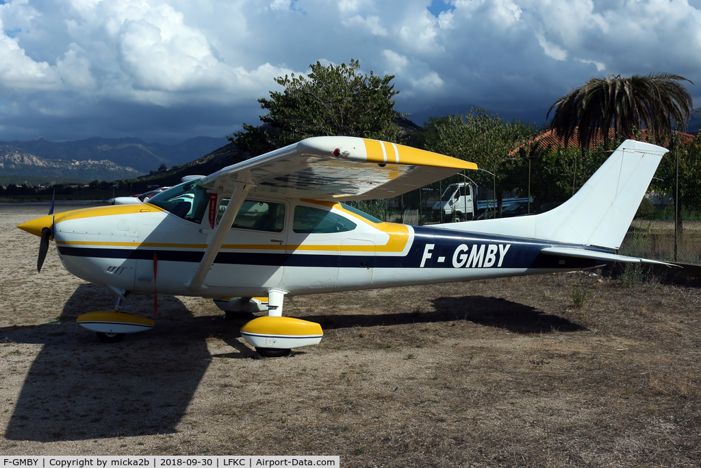
<path id="1" fill-rule="evenodd" d="M 399 93 L 390 82 L 370 72 L 360 74 L 360 63 L 309 66 L 307 76 L 279 76 L 282 92 L 261 98 L 263 124 L 243 124 L 243 131 L 227 137 L 252 156 L 290 145 L 304 138 L 345 135 L 399 142 L 402 136 L 394 120 L 393 97 Z"/>

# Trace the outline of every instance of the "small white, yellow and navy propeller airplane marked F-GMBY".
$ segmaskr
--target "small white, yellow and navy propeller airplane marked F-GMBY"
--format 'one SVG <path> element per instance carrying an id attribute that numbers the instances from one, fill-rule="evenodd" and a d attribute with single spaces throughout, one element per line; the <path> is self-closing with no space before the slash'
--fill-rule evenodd
<path id="1" fill-rule="evenodd" d="M 662 263 L 616 250 L 666 152 L 626 140 L 547 213 L 417 227 L 382 222 L 342 201 L 397 196 L 477 169 L 474 163 L 364 138 L 308 138 L 144 203 L 50 214 L 18 227 L 41 237 L 39 270 L 53 239 L 69 272 L 118 295 L 114 311 L 78 318 L 102 341 L 154 326 L 119 312 L 128 294 L 155 301 L 166 293 L 210 297 L 229 314 L 267 311 L 241 334 L 261 356 L 283 356 L 323 335 L 318 323 L 283 317 L 285 295 Z"/>

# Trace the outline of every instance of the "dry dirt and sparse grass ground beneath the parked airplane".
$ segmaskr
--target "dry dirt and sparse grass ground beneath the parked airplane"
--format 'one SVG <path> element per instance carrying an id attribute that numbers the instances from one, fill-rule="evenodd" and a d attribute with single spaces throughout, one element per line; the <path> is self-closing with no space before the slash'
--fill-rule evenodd
<path id="1" fill-rule="evenodd" d="M 69 209 L 60 206 L 59 209 Z M 701 293 L 587 273 L 295 297 L 321 345 L 252 359 L 245 321 L 165 296 L 156 328 L 0 206 L 0 453 L 340 455 L 343 467 L 698 467 Z M 153 317 L 152 297 L 125 312 Z M 580 307 L 576 307 L 580 305 Z"/>

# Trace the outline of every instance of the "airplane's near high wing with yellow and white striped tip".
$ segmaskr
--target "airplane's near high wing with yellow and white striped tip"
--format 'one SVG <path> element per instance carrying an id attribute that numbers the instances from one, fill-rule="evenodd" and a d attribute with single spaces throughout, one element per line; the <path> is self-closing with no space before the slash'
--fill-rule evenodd
<path id="1" fill-rule="evenodd" d="M 307 199 L 381 199 L 404 194 L 477 164 L 395 143 L 314 137 L 234 164 L 200 180 L 226 192 L 237 183 L 257 194 Z"/>

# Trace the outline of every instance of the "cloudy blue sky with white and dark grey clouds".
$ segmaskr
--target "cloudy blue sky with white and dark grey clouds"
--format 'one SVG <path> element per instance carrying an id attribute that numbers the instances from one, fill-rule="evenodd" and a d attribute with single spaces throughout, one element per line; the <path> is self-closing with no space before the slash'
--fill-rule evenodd
<path id="1" fill-rule="evenodd" d="M 231 135 L 276 76 L 351 58 L 419 124 L 543 123 L 608 74 L 679 74 L 697 103 L 701 0 L 0 0 L 0 140 Z"/>

